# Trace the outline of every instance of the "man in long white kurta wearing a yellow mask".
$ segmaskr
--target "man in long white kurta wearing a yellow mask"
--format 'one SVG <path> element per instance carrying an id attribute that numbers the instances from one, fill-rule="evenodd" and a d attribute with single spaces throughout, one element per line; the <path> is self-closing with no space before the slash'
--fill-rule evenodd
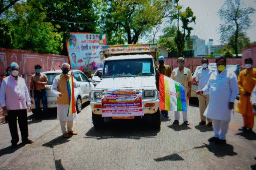
<path id="1" fill-rule="evenodd" d="M 210 101 L 204 112 L 204 116 L 212 119 L 214 136 L 208 141 L 216 144 L 226 143 L 226 133 L 230 122 L 231 110 L 234 109 L 234 101 L 238 93 L 237 78 L 234 72 L 227 71 L 226 59 L 216 58 L 218 70 L 213 72 L 202 90 L 197 94 L 208 93 Z"/>

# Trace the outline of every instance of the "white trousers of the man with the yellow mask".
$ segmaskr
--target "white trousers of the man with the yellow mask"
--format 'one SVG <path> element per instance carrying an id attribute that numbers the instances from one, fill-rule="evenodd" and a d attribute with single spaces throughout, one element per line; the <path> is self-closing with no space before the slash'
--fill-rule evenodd
<path id="1" fill-rule="evenodd" d="M 228 131 L 228 124 L 229 121 L 222 121 L 222 120 L 216 120 L 213 119 L 213 131 L 214 131 L 214 136 L 213 137 L 218 137 L 219 139 L 226 139 L 226 134 Z"/>

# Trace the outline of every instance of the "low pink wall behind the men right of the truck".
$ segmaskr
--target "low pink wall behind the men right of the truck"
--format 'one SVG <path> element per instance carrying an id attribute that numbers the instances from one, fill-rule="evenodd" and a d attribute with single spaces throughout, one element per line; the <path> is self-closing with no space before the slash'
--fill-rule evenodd
<path id="1" fill-rule="evenodd" d="M 201 65 L 202 58 L 185 58 L 185 67 L 191 70 L 193 73 L 197 66 Z M 215 63 L 216 58 L 208 58 L 209 63 Z M 171 66 L 171 69 L 178 67 L 177 58 L 165 58 L 164 63 Z M 243 59 L 242 58 L 227 58 L 227 64 L 240 64 L 242 65 Z M 256 63 L 256 62 L 255 62 Z"/>

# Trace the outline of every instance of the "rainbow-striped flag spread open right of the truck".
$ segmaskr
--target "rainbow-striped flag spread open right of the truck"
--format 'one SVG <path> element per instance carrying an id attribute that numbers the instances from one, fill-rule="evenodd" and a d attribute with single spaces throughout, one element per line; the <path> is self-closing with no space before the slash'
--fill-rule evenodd
<path id="1" fill-rule="evenodd" d="M 187 111 L 184 87 L 173 79 L 159 74 L 160 110 Z"/>

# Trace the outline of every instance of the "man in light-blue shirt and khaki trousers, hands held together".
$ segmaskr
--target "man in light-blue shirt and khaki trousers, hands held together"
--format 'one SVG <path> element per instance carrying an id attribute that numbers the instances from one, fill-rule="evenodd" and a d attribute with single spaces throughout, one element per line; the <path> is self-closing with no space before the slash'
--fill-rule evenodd
<path id="1" fill-rule="evenodd" d="M 198 70 L 196 75 L 196 81 L 198 83 L 198 89 L 203 89 L 204 86 L 207 84 L 210 75 L 212 74 L 213 70 L 210 70 L 208 68 L 209 61 L 207 58 L 203 58 L 201 60 L 202 67 Z M 204 96 L 204 97 L 203 97 Z M 209 92 L 206 92 L 203 94 L 203 96 L 198 95 L 198 101 L 199 101 L 199 111 L 200 111 L 200 118 L 201 122 L 199 125 L 205 125 L 206 124 L 206 117 L 204 116 L 204 111 L 209 103 Z M 208 124 L 207 126 L 212 127 L 212 120 L 210 118 L 207 118 Z"/>

